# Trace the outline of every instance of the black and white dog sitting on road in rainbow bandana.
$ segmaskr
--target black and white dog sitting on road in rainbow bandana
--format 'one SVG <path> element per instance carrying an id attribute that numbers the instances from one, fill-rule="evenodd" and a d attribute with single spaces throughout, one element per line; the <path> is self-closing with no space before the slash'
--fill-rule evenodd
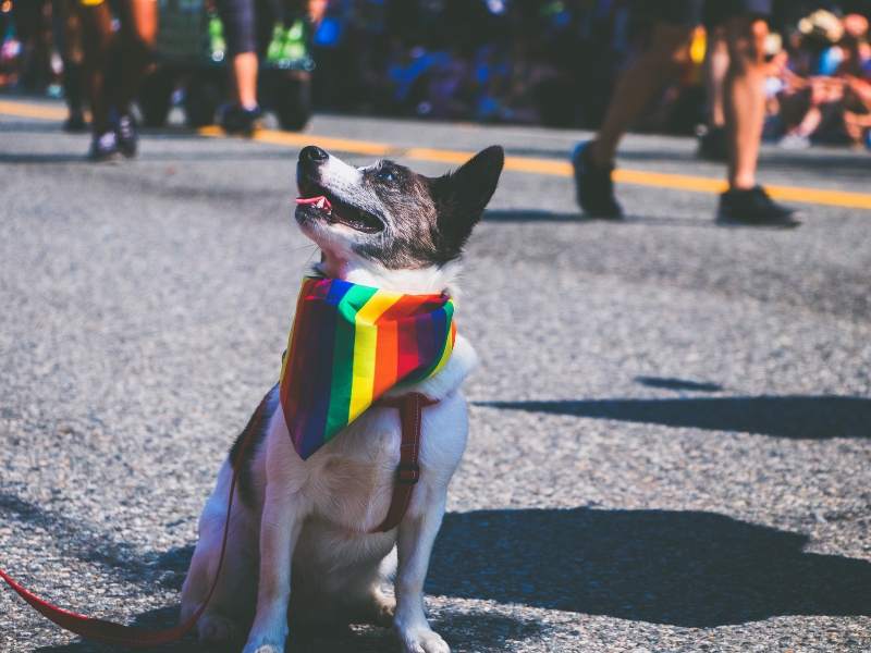
<path id="1" fill-rule="evenodd" d="M 355 168 L 314 146 L 297 164 L 296 222 L 321 251 L 317 275 L 408 294 L 454 293 L 463 248 L 495 192 L 501 147 L 440 177 L 389 160 Z M 326 201 L 320 199 L 326 198 Z M 420 479 L 400 526 L 369 532 L 391 503 L 400 456 L 395 408 L 372 406 L 303 460 L 279 401 L 267 393 L 231 448 L 199 519 L 182 589 L 182 619 L 206 602 L 217 574 L 234 466 L 238 478 L 218 584 L 198 621 L 200 641 L 242 641 L 281 653 L 296 628 L 392 626 L 406 653 L 449 653 L 424 613 L 424 580 L 451 481 L 466 446 L 461 385 L 477 361 L 457 333 L 434 375 L 394 394 L 437 399 L 424 411 Z M 388 393 L 390 394 L 390 393 Z M 246 443 L 243 445 L 243 443 Z M 395 577 L 395 599 L 382 586 Z"/>

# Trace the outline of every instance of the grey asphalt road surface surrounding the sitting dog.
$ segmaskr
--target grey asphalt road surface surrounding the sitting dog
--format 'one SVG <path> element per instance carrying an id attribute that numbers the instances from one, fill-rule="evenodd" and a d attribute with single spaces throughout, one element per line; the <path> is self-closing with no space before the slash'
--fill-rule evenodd
<path id="1" fill-rule="evenodd" d="M 559 160 L 580 136 L 309 131 Z M 291 220 L 297 150 L 182 131 L 121 164 L 86 148 L 0 116 L 0 566 L 68 607 L 170 625 L 314 256 Z M 717 177 L 692 149 L 635 136 L 621 163 Z M 768 183 L 869 192 L 867 155 L 762 165 Z M 458 320 L 482 366 L 434 627 L 469 653 L 871 650 L 871 211 L 723 229 L 714 195 L 619 194 L 625 224 L 587 221 L 571 180 L 506 172 L 471 239 Z M 291 649 L 395 645 L 355 627 Z M 107 650 L 0 590 L 0 651 Z"/>

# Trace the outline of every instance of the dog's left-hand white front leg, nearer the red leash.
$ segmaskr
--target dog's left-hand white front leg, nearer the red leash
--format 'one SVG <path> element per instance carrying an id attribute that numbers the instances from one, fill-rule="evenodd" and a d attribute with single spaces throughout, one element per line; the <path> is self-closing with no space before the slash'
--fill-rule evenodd
<path id="1" fill-rule="evenodd" d="M 293 549 L 303 527 L 294 494 L 267 482 L 260 521 L 260 578 L 257 613 L 243 653 L 283 653 L 287 639 Z"/>

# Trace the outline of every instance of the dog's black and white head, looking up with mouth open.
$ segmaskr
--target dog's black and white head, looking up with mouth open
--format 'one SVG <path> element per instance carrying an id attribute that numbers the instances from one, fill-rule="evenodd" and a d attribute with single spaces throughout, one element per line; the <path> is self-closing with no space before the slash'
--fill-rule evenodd
<path id="1" fill-rule="evenodd" d="M 333 266 L 379 276 L 441 270 L 459 258 L 503 162 L 493 146 L 444 176 L 427 177 L 389 160 L 355 168 L 309 146 L 296 169 L 296 221 Z"/>

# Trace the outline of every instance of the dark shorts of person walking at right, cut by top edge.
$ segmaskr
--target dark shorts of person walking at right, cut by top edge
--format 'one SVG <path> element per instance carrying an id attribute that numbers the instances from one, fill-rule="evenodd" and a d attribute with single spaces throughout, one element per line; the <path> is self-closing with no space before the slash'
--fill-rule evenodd
<path id="1" fill-rule="evenodd" d="M 768 17 L 772 4 L 773 0 L 636 0 L 634 9 L 649 21 L 715 27 L 735 16 Z"/>

